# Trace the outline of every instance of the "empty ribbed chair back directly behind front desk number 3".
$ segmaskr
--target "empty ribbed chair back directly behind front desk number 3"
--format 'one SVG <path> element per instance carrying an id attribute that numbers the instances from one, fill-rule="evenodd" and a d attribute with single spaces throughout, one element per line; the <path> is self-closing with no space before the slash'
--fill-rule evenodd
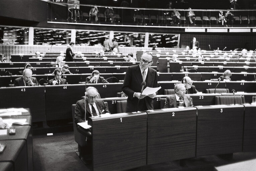
<path id="1" fill-rule="evenodd" d="M 244 104 L 244 96 L 215 96 L 215 105 Z"/>

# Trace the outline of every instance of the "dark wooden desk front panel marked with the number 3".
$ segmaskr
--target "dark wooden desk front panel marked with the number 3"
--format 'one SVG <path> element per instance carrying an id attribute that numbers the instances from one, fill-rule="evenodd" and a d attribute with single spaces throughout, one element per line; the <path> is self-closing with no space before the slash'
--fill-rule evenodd
<path id="1" fill-rule="evenodd" d="M 244 107 L 199 107 L 196 156 L 242 151 Z"/>

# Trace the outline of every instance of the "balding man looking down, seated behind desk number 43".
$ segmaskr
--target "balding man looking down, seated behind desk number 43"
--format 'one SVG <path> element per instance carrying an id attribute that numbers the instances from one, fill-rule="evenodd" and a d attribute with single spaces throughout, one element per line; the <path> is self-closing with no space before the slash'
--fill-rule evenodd
<path id="1" fill-rule="evenodd" d="M 32 77 L 32 70 L 26 68 L 23 70 L 23 76 L 16 78 L 14 80 L 14 86 L 36 86 L 38 82 L 35 77 Z"/>

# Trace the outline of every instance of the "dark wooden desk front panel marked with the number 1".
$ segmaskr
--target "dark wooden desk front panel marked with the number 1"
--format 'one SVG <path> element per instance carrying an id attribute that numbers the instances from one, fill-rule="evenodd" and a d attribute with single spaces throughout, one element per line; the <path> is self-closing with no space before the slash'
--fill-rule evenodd
<path id="1" fill-rule="evenodd" d="M 94 171 L 119 171 L 146 165 L 147 114 L 116 115 L 88 121 L 92 124 Z"/>

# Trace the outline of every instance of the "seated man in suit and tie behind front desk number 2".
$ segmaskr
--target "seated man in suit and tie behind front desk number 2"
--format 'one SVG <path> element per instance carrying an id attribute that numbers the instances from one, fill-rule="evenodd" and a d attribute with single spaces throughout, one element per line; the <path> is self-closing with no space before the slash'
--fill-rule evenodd
<path id="1" fill-rule="evenodd" d="M 193 106 L 190 96 L 185 95 L 186 89 L 184 84 L 178 83 L 174 86 L 175 95 L 170 95 L 166 97 L 164 108 L 177 108 L 179 106 L 179 101 L 183 100 L 184 107 Z"/>

